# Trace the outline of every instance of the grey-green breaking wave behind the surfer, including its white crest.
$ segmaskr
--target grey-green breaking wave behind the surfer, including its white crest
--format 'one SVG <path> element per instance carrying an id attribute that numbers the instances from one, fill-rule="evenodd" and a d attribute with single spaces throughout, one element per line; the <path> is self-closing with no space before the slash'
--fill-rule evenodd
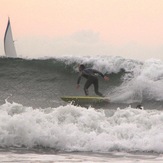
<path id="1" fill-rule="evenodd" d="M 144 103 L 162 107 L 163 62 L 140 62 L 122 57 L 60 57 L 50 59 L 0 58 L 0 102 L 8 98 L 28 106 L 59 106 L 63 95 L 84 95 L 76 90 L 78 65 L 85 64 L 110 78 L 99 77 L 100 91 L 112 103 Z M 126 73 L 128 72 L 128 73 Z M 95 95 L 91 87 L 90 95 Z M 160 107 L 160 108 L 161 108 Z"/>

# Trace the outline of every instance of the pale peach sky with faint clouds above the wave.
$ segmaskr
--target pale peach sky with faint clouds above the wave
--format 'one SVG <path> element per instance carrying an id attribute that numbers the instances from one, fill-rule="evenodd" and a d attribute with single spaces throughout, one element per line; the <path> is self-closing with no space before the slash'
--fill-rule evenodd
<path id="1" fill-rule="evenodd" d="M 19 57 L 163 60 L 163 0 L 0 0 L 0 56 L 8 17 Z"/>

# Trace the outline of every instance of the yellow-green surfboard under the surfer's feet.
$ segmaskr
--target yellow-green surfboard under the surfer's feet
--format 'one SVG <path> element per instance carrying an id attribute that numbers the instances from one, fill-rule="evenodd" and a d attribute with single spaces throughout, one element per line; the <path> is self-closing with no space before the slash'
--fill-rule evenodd
<path id="1" fill-rule="evenodd" d="M 63 96 L 61 97 L 61 99 L 65 102 L 72 103 L 75 105 L 109 103 L 109 99 L 107 97 L 96 96 Z"/>

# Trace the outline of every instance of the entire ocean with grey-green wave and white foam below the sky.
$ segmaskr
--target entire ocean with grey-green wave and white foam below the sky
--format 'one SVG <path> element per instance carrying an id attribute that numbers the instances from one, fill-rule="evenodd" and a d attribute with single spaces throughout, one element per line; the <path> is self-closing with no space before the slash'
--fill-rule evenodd
<path id="1" fill-rule="evenodd" d="M 99 90 L 110 103 L 61 100 L 84 95 L 84 78 L 76 89 L 81 63 L 109 77 L 99 76 Z M 0 162 L 163 162 L 163 62 L 1 57 Z"/>

